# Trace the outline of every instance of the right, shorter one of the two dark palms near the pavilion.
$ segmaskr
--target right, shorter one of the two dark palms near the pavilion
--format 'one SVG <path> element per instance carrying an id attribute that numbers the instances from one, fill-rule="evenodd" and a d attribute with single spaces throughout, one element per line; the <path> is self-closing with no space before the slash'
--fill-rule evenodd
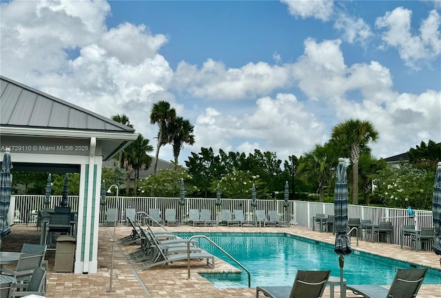
<path id="1" fill-rule="evenodd" d="M 173 143 L 173 156 L 174 163 L 178 164 L 179 153 L 183 149 L 184 143 L 193 145 L 194 140 L 194 126 L 188 119 L 177 117 L 171 125 L 170 135 L 172 136 Z"/>

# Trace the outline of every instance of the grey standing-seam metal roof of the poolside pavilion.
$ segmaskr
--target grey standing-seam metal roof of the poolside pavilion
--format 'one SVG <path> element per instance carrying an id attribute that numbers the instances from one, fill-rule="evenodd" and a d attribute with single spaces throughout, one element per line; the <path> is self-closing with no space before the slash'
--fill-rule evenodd
<path id="1" fill-rule="evenodd" d="M 134 132 L 112 119 L 0 76 L 0 124 L 14 127 Z"/>

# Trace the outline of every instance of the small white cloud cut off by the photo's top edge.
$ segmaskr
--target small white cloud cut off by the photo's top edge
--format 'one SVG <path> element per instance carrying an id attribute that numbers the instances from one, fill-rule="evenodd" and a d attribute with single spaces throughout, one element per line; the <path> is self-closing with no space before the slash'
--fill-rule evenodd
<path id="1" fill-rule="evenodd" d="M 314 17 L 327 21 L 332 14 L 334 1 L 331 0 L 281 0 L 287 4 L 289 13 L 303 19 Z"/>

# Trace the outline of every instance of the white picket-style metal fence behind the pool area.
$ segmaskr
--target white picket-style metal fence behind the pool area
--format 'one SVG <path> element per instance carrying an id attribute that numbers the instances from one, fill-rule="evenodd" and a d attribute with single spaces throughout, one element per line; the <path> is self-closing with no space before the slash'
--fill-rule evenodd
<path id="1" fill-rule="evenodd" d="M 34 222 L 34 215 L 37 211 L 45 208 L 44 195 L 14 195 L 15 197 L 15 218 L 16 223 Z M 72 211 L 76 212 L 78 208 L 78 196 L 68 196 L 68 205 Z M 152 197 L 107 197 L 107 204 L 101 205 L 100 222 L 105 220 L 105 211 L 109 208 L 118 209 L 119 222 L 125 222 L 125 209 L 136 209 L 137 212 L 148 213 L 149 209 L 176 209 L 176 218 L 185 220 L 189 209 L 209 209 L 212 211 L 212 218 L 218 218 L 220 209 L 243 210 L 247 220 L 252 220 L 254 209 L 251 199 L 222 199 L 221 206 L 216 206 L 216 198 L 185 198 L 185 205 L 179 205 L 180 198 L 152 198 Z M 52 195 L 50 197 L 50 206 L 54 208 L 61 202 L 61 195 Z M 334 204 L 320 202 L 289 201 L 287 208 L 283 207 L 283 200 L 257 200 L 256 209 L 265 211 L 276 210 L 282 219 L 290 224 L 298 226 L 307 226 L 312 228 L 314 224 L 312 217 L 317 213 L 334 215 Z M 361 220 L 371 220 L 374 224 L 379 222 L 392 222 L 393 243 L 400 244 L 400 230 L 402 225 L 415 224 L 418 228 L 430 228 L 433 226 L 431 211 L 414 210 L 416 216 L 409 217 L 407 209 L 392 209 L 385 207 L 371 207 L 360 205 L 349 205 L 349 218 L 360 218 Z M 409 246 L 409 244 L 406 244 Z"/>

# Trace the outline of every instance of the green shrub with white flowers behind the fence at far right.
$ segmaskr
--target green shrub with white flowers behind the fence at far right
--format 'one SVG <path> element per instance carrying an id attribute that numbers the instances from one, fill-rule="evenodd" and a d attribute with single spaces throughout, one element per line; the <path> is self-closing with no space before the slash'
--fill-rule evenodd
<path id="1" fill-rule="evenodd" d="M 411 164 L 404 164 L 400 168 L 389 166 L 379 171 L 373 180 L 373 198 L 389 207 L 430 209 L 433 175 Z"/>

